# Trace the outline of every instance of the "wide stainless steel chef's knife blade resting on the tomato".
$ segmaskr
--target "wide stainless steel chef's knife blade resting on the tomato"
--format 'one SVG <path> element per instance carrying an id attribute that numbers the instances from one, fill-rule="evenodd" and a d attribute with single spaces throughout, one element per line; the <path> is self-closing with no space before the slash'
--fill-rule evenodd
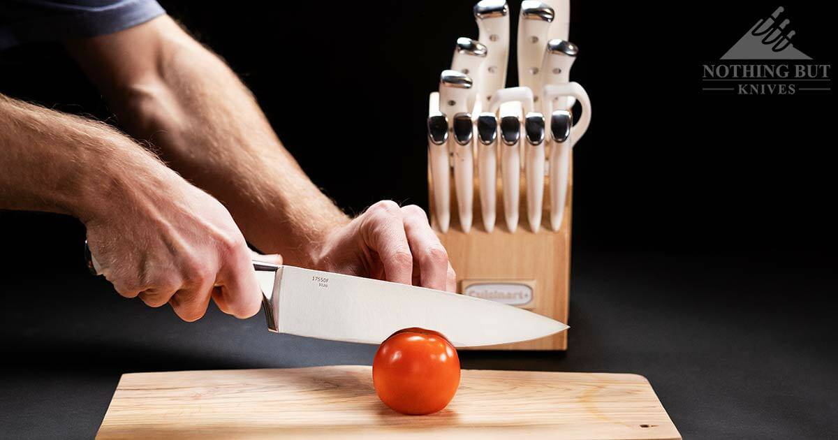
<path id="1" fill-rule="evenodd" d="M 273 273 L 276 277 L 268 279 Z M 455 346 L 475 347 L 567 329 L 554 319 L 494 301 L 299 267 L 262 272 L 260 284 L 271 292 L 266 294 L 268 326 L 311 338 L 380 344 L 396 330 L 421 327 L 444 334 Z"/>

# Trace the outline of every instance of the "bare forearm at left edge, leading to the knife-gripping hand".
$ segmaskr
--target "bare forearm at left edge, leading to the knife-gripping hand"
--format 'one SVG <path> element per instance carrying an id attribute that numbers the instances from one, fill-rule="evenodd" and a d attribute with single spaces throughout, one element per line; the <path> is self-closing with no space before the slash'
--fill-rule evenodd
<path id="1" fill-rule="evenodd" d="M 162 163 L 101 122 L 0 95 L 0 209 L 74 215 L 109 210 L 137 179 L 171 178 Z"/>

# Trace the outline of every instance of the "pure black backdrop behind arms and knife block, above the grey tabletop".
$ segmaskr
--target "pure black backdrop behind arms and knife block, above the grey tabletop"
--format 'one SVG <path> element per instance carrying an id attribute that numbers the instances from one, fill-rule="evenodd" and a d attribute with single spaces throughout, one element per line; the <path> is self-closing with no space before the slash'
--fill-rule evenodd
<path id="1" fill-rule="evenodd" d="M 162 3 L 242 76 L 286 147 L 345 210 L 378 199 L 427 206 L 427 94 L 454 39 L 476 37 L 472 2 Z M 834 39 L 818 4 L 785 6 L 795 46 L 831 64 Z M 832 92 L 701 91 L 702 63 L 773 8 L 573 3 L 581 54 L 572 80 L 594 109 L 574 151 L 576 251 L 831 254 Z M 7 51 L 0 63 L 4 93 L 110 116 L 53 45 Z M 26 216 L 15 225 L 22 243 L 28 225 L 44 227 Z"/>

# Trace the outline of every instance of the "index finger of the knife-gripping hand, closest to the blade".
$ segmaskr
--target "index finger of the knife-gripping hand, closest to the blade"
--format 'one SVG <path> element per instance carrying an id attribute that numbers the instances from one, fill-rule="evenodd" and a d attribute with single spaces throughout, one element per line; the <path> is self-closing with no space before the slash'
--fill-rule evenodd
<path id="1" fill-rule="evenodd" d="M 220 287 L 220 293 L 214 295 L 215 302 L 225 313 L 236 318 L 250 318 L 259 312 L 262 298 L 251 251 L 244 239 L 228 249 L 222 255 L 224 262 L 215 280 L 215 285 Z"/>

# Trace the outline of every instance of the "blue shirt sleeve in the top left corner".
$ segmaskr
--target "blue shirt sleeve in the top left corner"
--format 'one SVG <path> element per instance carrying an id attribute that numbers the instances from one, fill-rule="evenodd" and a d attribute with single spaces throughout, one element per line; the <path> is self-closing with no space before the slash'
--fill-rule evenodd
<path id="1" fill-rule="evenodd" d="M 163 13 L 156 0 L 0 0 L 0 50 L 112 34 Z"/>

